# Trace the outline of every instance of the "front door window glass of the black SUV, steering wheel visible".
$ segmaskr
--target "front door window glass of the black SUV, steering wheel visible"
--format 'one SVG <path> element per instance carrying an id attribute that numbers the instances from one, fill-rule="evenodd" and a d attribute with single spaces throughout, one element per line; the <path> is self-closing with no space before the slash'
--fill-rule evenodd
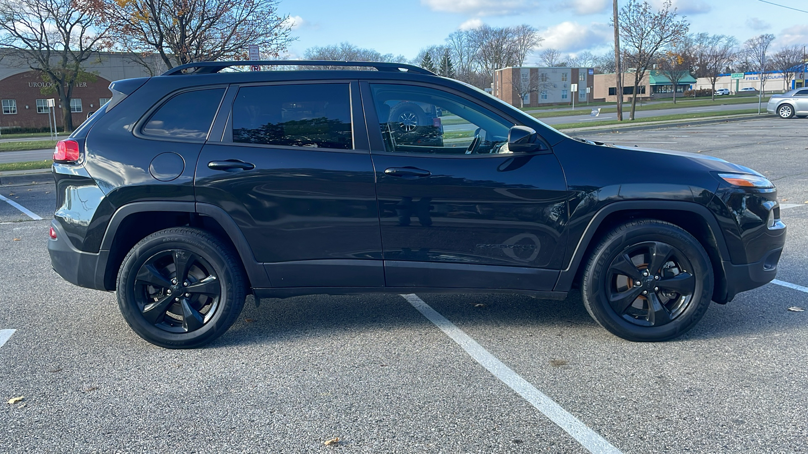
<path id="1" fill-rule="evenodd" d="M 468 99 L 425 86 L 371 84 L 371 88 L 386 151 L 508 152 L 513 123 Z"/>

